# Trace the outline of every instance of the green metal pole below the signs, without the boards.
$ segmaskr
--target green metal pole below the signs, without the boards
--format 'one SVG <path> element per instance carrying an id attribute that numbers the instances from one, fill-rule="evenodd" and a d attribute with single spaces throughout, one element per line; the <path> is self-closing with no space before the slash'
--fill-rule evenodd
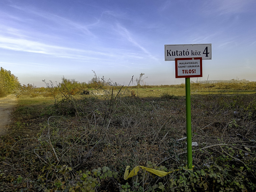
<path id="1" fill-rule="evenodd" d="M 187 124 L 187 160 L 188 168 L 192 169 L 192 131 L 191 131 L 191 98 L 190 98 L 190 78 L 186 81 L 186 124 Z"/>

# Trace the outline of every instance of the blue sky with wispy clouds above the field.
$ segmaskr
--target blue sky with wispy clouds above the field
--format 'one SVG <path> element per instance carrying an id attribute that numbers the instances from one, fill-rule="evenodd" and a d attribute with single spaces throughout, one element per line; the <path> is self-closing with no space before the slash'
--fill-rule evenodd
<path id="1" fill-rule="evenodd" d="M 212 44 L 200 80 L 256 81 L 255 0 L 1 0 L 0 66 L 21 84 L 180 84 L 165 44 Z M 196 81 L 197 78 L 191 78 Z"/>

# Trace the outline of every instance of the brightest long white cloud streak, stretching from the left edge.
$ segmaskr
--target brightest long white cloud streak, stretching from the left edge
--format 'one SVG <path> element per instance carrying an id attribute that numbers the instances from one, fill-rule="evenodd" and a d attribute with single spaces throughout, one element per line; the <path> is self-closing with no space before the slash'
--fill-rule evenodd
<path id="1" fill-rule="evenodd" d="M 124 51 L 120 49 L 108 49 L 105 52 L 101 51 L 93 51 L 93 50 L 84 50 L 84 49 L 76 49 L 70 47 L 61 47 L 49 45 L 41 42 L 19 39 L 19 38 L 10 38 L 0 35 L 0 48 L 8 49 L 12 51 L 22 51 L 29 52 L 35 54 L 43 54 L 51 57 L 58 58 L 67 58 L 67 59 L 75 59 L 81 61 L 88 62 L 105 62 L 108 63 L 116 63 L 110 62 L 116 58 L 133 58 L 140 59 L 141 57 L 137 54 L 134 54 L 130 51 Z M 100 49 L 99 49 L 100 50 Z"/>

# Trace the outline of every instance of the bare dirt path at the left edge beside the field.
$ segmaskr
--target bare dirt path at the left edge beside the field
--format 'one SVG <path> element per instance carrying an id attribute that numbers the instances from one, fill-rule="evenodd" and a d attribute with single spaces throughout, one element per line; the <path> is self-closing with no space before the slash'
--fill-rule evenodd
<path id="1" fill-rule="evenodd" d="M 18 99 L 16 95 L 8 95 L 0 98 L 0 135 L 6 134 L 6 125 L 12 122 L 10 115 L 17 105 L 17 102 Z"/>

